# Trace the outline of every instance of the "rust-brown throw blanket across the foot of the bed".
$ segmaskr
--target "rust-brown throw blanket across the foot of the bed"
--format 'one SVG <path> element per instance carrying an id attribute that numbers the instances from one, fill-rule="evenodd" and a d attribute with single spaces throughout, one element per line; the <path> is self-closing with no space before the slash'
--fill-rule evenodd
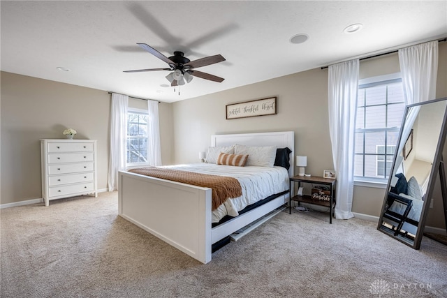
<path id="1" fill-rule="evenodd" d="M 207 187 L 212 189 L 212 210 L 214 211 L 228 198 L 237 198 L 242 195 L 239 181 L 233 177 L 224 177 L 212 174 L 201 174 L 181 170 L 171 170 L 162 167 L 138 167 L 129 170 L 136 174 L 156 177 L 184 184 Z"/>

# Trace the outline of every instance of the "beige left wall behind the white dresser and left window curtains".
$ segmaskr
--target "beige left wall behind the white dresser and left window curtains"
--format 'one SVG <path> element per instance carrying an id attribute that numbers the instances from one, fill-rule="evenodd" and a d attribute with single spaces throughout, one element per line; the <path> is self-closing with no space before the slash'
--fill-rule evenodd
<path id="1" fill-rule="evenodd" d="M 142 101 L 142 100 L 140 100 Z M 145 102 L 144 102 L 145 103 Z M 172 109 L 159 104 L 163 163 L 172 159 Z M 42 198 L 39 140 L 98 140 L 98 188 L 107 188 L 110 94 L 107 91 L 1 72 L 0 204 Z"/>

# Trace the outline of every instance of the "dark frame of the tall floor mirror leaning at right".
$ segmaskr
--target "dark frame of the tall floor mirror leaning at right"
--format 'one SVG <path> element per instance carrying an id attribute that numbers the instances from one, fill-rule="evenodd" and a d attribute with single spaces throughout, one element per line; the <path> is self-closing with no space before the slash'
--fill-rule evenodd
<path id="1" fill-rule="evenodd" d="M 397 142 L 397 148 L 400 148 L 400 143 L 405 141 L 405 140 L 402 140 L 402 134 L 404 132 L 406 117 L 409 114 L 409 110 L 411 109 L 411 107 L 418 107 L 418 106 L 428 105 L 430 103 L 437 103 L 442 100 L 447 101 L 447 97 L 438 98 L 438 99 L 434 99 L 434 100 L 427 100 L 423 103 L 415 103 L 412 105 L 406 105 L 404 117 L 402 120 L 402 126 L 400 128 L 400 133 L 399 133 L 399 138 L 398 138 L 399 142 Z M 386 211 L 388 193 L 390 191 L 390 186 L 391 186 L 391 179 L 393 179 L 393 172 L 395 171 L 397 156 L 400 154 L 400 152 L 398 150 L 395 151 L 395 155 L 394 155 L 394 159 L 393 159 L 393 166 L 390 169 L 390 177 L 388 177 L 388 184 L 387 184 L 386 191 L 385 191 L 385 198 L 383 199 L 383 204 L 382 204 L 381 213 L 380 213 L 380 217 L 379 217 L 379 223 L 377 225 L 377 230 L 387 234 L 390 237 L 393 237 L 393 238 L 401 241 L 402 243 L 404 243 L 408 246 L 411 246 L 414 249 L 420 248 L 420 242 L 422 241 L 424 228 L 425 228 L 425 221 L 427 219 L 428 210 L 430 209 L 430 200 L 432 198 L 434 186 L 436 184 L 436 178 L 438 177 L 437 173 L 439 173 L 439 177 L 441 179 L 444 179 L 444 180 L 446 179 L 446 177 L 443 177 L 445 175 L 444 175 L 444 161 L 443 161 L 443 157 L 442 157 L 442 151 L 444 150 L 444 144 L 446 143 L 446 135 L 447 135 L 447 105 L 446 105 L 446 109 L 444 110 L 444 119 L 441 124 L 441 131 L 439 133 L 437 149 L 434 154 L 434 161 L 432 163 L 432 169 L 430 170 L 430 179 L 429 179 L 428 186 L 427 186 L 427 192 L 425 193 L 425 196 L 424 196 L 425 198 L 424 198 L 422 211 L 420 214 L 420 220 L 418 223 L 418 230 L 416 231 L 416 235 L 414 237 L 414 241 L 412 244 L 411 244 L 410 239 L 403 239 L 402 237 L 395 236 L 394 233 L 391 233 L 388 230 L 383 230 L 381 228 L 382 222 L 383 222 L 383 214 Z M 443 167 L 443 168 L 441 169 L 441 167 Z M 441 188 L 443 186 L 445 188 L 446 181 L 441 181 Z M 443 195 L 445 195 L 445 194 L 443 193 Z M 444 200 L 445 200 L 445 198 L 444 198 Z M 447 218 L 446 218 L 446 221 L 447 221 Z"/>

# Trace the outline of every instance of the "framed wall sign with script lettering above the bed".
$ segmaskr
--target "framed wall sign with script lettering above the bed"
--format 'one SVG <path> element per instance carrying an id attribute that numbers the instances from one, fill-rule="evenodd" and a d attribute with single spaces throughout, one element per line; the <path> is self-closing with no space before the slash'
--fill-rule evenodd
<path id="1" fill-rule="evenodd" d="M 246 101 L 244 103 L 232 103 L 226 105 L 226 119 L 256 117 L 273 115 L 277 113 L 277 98 L 263 98 Z"/>

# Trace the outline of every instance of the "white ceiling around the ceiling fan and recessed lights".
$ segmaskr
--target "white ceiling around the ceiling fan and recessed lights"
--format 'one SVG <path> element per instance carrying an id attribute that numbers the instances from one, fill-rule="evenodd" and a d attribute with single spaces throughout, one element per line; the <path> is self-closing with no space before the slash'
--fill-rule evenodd
<path id="1" fill-rule="evenodd" d="M 1 1 L 1 70 L 173 102 L 447 36 L 447 1 Z M 346 34 L 350 24 L 362 23 Z M 290 43 L 297 33 L 309 40 Z M 226 58 L 180 95 L 142 50 Z M 61 66 L 71 71 L 57 70 Z"/>

